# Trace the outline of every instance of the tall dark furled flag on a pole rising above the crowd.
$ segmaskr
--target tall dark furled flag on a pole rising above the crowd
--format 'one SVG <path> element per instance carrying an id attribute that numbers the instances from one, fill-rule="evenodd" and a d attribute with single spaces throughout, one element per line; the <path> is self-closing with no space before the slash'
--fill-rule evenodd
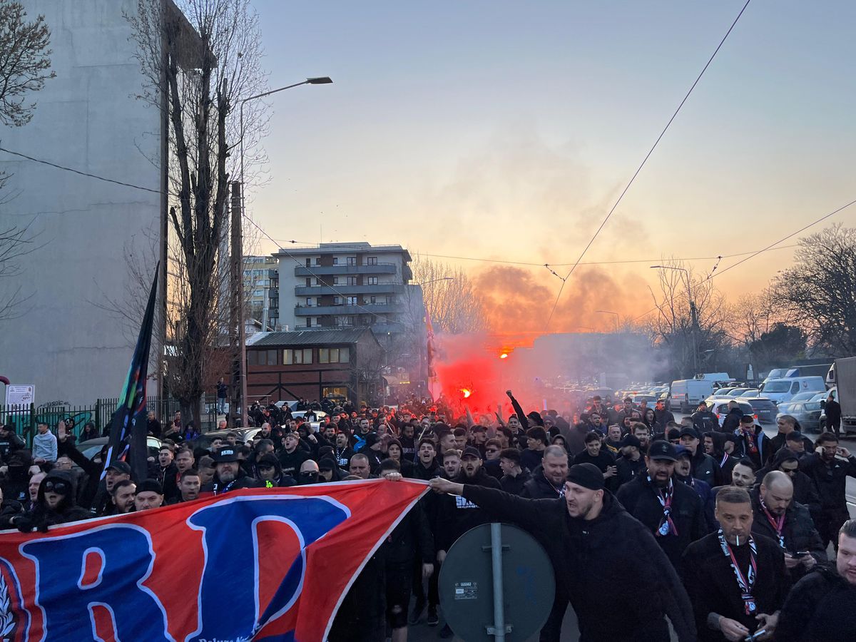
<path id="1" fill-rule="evenodd" d="M 155 302 L 158 299 L 158 271 L 160 263 L 155 267 L 155 277 L 149 292 L 149 302 L 140 336 L 137 337 L 137 347 L 128 368 L 128 377 L 122 386 L 119 403 L 113 419 L 110 422 L 110 441 L 107 447 L 104 470 L 101 478 L 107 472 L 107 467 L 116 461 L 128 461 L 133 478 L 137 481 L 146 479 L 146 377 L 149 372 L 149 348 L 152 346 L 152 325 L 155 317 Z"/>

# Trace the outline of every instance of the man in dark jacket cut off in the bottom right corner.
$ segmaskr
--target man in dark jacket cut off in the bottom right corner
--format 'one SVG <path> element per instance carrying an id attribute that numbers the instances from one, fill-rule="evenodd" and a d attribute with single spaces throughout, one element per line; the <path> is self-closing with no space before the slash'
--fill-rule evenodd
<path id="1" fill-rule="evenodd" d="M 856 631 L 856 520 L 838 532 L 835 570 L 818 566 L 788 593 L 777 640 L 852 642 Z"/>

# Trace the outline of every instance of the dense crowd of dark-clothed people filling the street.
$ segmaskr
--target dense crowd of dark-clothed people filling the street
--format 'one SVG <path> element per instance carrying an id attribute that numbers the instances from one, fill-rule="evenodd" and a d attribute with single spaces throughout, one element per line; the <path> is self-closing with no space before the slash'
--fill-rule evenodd
<path id="1" fill-rule="evenodd" d="M 669 622 L 680 640 L 853 640 L 845 484 L 856 458 L 835 434 L 812 442 L 784 416 L 771 439 L 736 402 L 722 421 L 701 404 L 678 422 L 629 398 L 526 413 L 507 395 L 508 418 L 443 400 L 329 412 L 300 400 L 300 417 L 255 406 L 247 443 L 246 432 L 204 440 L 180 415 L 162 424 L 150 413 L 162 446 L 146 479 L 124 461 L 101 479 L 106 447 L 90 460 L 65 425 L 39 425 L 32 449 L 0 425 L 0 528 L 45 532 L 240 488 L 423 479 L 435 492 L 366 563 L 330 640 L 402 642 L 408 627 L 438 627 L 446 553 L 493 520 L 531 532 L 556 568 L 542 640 L 559 639 L 568 604 L 584 641 L 667 640 Z"/>

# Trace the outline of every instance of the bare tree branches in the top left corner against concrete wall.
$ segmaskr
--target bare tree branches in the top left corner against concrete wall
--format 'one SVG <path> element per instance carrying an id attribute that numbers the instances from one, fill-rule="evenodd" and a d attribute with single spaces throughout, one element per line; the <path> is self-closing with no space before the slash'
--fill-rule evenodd
<path id="1" fill-rule="evenodd" d="M 54 78 L 51 68 L 51 30 L 45 16 L 27 21 L 24 6 L 0 0 L 0 122 L 7 127 L 26 125 L 36 104 L 27 95 L 39 92 Z"/>

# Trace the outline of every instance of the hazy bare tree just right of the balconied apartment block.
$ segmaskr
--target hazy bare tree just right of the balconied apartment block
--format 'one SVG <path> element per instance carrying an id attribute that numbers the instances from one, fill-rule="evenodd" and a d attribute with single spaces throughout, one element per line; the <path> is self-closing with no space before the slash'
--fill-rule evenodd
<path id="1" fill-rule="evenodd" d="M 490 329 L 484 300 L 461 268 L 417 253 L 413 260 L 413 282 L 422 284 L 425 310 L 435 332 L 460 335 Z"/>

